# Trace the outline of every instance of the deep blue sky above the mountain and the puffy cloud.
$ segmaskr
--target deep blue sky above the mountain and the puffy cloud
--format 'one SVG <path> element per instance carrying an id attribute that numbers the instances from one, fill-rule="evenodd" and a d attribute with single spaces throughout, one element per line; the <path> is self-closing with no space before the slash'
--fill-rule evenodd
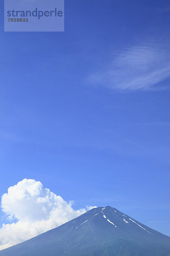
<path id="1" fill-rule="evenodd" d="M 34 179 L 170 236 L 169 1 L 65 0 L 65 32 L 0 9 L 0 195 Z"/>

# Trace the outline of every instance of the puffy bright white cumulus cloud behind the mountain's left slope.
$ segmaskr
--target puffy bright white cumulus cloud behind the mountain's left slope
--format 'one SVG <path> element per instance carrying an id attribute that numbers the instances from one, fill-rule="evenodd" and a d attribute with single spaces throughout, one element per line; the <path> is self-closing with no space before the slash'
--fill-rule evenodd
<path id="1" fill-rule="evenodd" d="M 0 228 L 0 250 L 26 241 L 78 217 L 94 207 L 74 210 L 72 202 L 43 188 L 40 181 L 24 179 L 8 188 L 1 207 L 10 223 Z"/>

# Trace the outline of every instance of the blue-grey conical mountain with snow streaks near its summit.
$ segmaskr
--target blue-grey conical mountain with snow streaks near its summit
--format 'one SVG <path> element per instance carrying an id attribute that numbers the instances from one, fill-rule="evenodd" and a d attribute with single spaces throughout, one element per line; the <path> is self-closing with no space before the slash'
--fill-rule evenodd
<path id="1" fill-rule="evenodd" d="M 115 208 L 98 207 L 0 256 L 170 256 L 170 237 Z"/>

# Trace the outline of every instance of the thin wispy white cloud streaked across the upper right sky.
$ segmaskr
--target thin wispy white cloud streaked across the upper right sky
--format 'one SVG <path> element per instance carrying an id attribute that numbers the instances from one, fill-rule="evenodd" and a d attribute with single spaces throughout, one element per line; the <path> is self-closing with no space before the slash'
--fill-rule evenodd
<path id="1" fill-rule="evenodd" d="M 170 77 L 170 49 L 151 42 L 122 49 L 105 67 L 88 77 L 88 83 L 115 90 L 163 90 Z"/>

